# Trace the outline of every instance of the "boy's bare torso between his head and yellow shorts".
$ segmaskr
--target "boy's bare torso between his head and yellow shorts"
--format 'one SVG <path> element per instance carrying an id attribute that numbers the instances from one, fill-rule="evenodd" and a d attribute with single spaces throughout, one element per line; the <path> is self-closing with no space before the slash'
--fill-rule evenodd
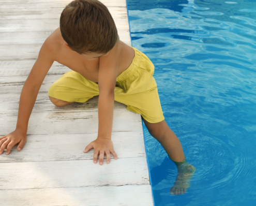
<path id="1" fill-rule="evenodd" d="M 98 82 L 100 57 L 95 60 L 86 60 L 78 53 L 65 48 L 63 44 L 66 42 L 62 38 L 59 27 L 49 36 L 49 39 L 51 39 L 51 42 L 54 42 L 52 46 L 56 48 L 54 61 L 69 67 L 90 81 Z M 134 50 L 130 46 L 121 40 L 118 41 L 121 45 L 121 52 L 118 57 L 117 76 L 129 67 L 135 56 Z"/>

